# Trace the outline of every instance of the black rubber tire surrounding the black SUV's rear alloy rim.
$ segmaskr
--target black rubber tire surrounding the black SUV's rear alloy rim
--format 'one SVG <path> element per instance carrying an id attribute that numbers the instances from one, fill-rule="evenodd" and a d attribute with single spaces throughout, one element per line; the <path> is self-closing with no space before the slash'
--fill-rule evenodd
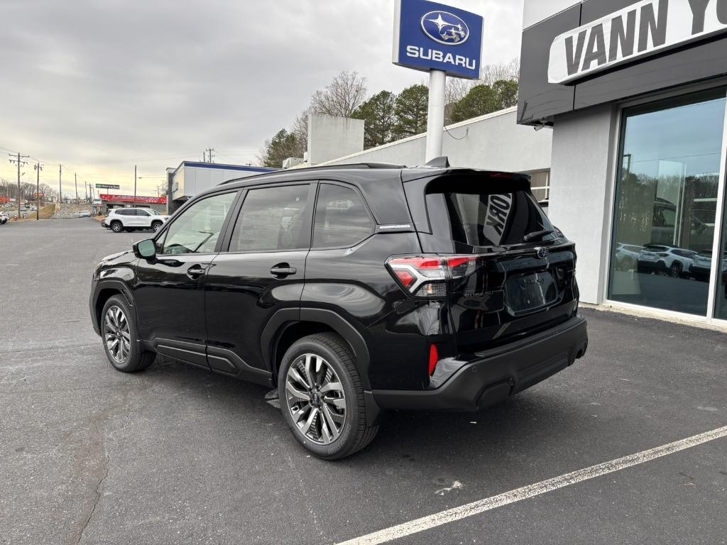
<path id="1" fill-rule="evenodd" d="M 288 371 L 302 356 L 315 354 L 337 374 L 345 395 L 345 420 L 340 434 L 328 444 L 319 444 L 305 435 L 295 424 L 286 392 Z M 366 426 L 364 387 L 348 344 L 337 334 L 321 333 L 303 337 L 295 342 L 283 356 L 278 371 L 278 396 L 281 413 L 293 437 L 310 453 L 324 460 L 338 460 L 350 456 L 369 445 L 379 431 L 378 426 Z"/>

